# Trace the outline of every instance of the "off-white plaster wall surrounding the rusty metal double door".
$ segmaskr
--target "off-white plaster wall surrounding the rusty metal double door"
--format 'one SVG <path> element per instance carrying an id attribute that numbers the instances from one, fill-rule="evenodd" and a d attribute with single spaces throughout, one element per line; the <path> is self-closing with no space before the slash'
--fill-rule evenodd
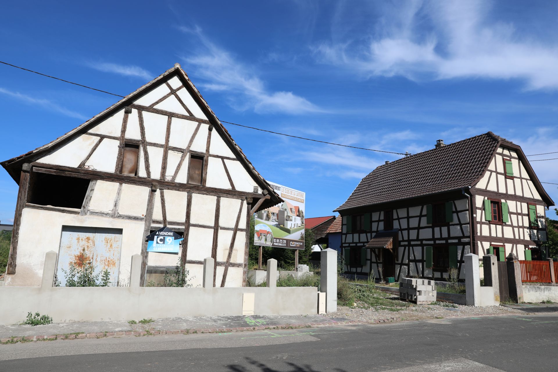
<path id="1" fill-rule="evenodd" d="M 37 223 L 40 221 L 40 223 Z M 5 286 L 40 286 L 45 253 L 59 252 L 62 226 L 93 226 L 122 229 L 119 281 L 126 284 L 133 254 L 140 254 L 143 222 L 110 219 L 91 215 L 75 215 L 55 211 L 24 208 L 21 215 L 17 247 L 16 274 L 4 279 Z M 2 318 L 2 317 L 0 317 Z"/>

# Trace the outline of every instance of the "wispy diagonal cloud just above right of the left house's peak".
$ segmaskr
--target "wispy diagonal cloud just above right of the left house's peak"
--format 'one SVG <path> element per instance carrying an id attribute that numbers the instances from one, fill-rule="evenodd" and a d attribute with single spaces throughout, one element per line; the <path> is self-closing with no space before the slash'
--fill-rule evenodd
<path id="1" fill-rule="evenodd" d="M 205 89 L 223 92 L 235 109 L 289 114 L 324 111 L 292 91 L 271 91 L 266 88 L 253 68 L 244 66 L 227 50 L 211 42 L 199 27 L 181 26 L 179 30 L 196 35 L 203 45 L 203 50 L 198 54 L 191 53 L 182 59 L 195 69 L 196 76 L 205 80 Z"/>

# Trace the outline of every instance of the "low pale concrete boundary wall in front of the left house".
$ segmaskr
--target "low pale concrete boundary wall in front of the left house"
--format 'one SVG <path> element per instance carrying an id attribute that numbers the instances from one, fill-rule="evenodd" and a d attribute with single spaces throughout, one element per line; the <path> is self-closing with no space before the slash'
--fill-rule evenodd
<path id="1" fill-rule="evenodd" d="M 54 322 L 243 315 L 244 293 L 254 294 L 256 315 L 318 313 L 315 287 L 140 287 L 140 255 L 132 257 L 131 287 L 52 287 L 55 262 L 56 253 L 48 252 L 45 263 L 52 264 L 45 264 L 41 287 L 0 287 L 0 303 L 9 304 L 0 310 L 0 324 L 22 322 L 27 312 Z"/>

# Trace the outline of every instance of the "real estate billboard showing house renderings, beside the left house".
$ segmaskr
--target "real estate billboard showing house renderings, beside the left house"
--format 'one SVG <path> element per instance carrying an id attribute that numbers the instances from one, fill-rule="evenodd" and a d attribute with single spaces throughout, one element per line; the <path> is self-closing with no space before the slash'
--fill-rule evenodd
<path id="1" fill-rule="evenodd" d="M 254 245 L 304 249 L 304 203 L 306 194 L 269 182 L 285 201 L 254 214 Z"/>

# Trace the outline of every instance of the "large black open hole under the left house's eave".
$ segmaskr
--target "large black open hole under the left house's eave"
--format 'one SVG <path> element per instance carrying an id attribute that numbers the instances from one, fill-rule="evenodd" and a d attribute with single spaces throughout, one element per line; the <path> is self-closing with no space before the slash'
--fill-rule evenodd
<path id="1" fill-rule="evenodd" d="M 38 205 L 80 209 L 89 180 L 32 172 L 27 202 Z"/>

